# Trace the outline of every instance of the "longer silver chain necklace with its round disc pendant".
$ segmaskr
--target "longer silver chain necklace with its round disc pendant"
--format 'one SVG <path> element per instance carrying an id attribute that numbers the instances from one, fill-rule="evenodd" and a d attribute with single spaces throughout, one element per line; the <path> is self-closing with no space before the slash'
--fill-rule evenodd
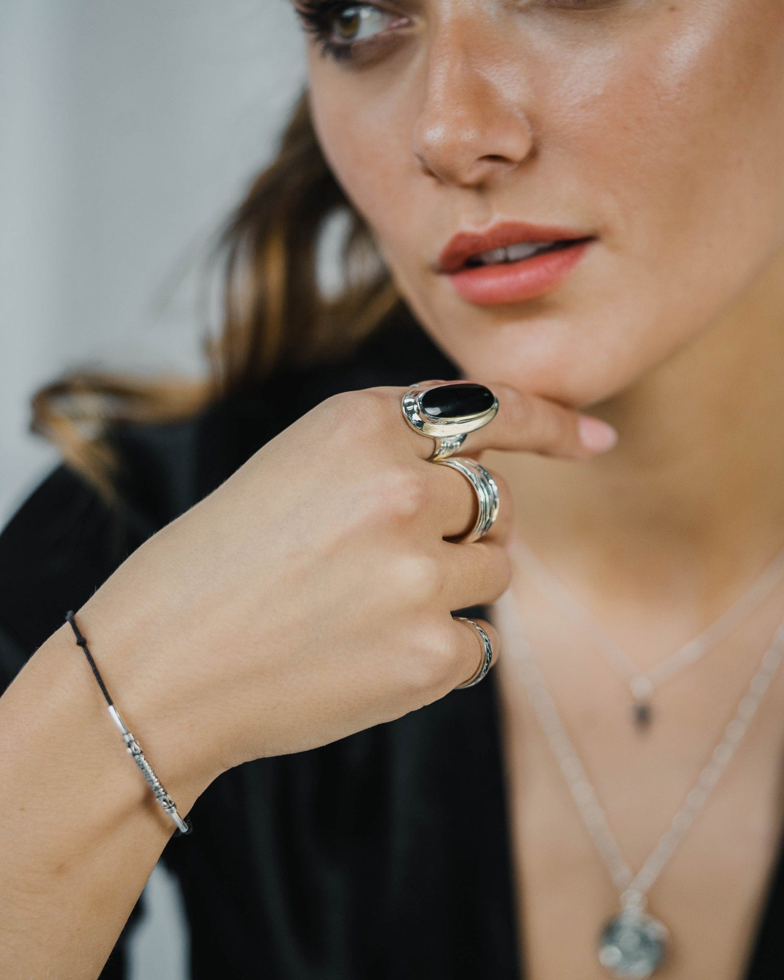
<path id="1" fill-rule="evenodd" d="M 531 708 L 544 731 L 585 828 L 618 890 L 620 910 L 601 929 L 598 956 L 615 977 L 645 980 L 662 965 L 669 932 L 662 922 L 646 912 L 648 892 L 672 857 L 695 816 L 705 806 L 729 760 L 741 743 L 749 723 L 770 686 L 784 655 L 784 620 L 776 629 L 772 643 L 762 656 L 760 667 L 741 698 L 733 719 L 713 748 L 711 760 L 703 768 L 683 806 L 672 817 L 654 850 L 636 873 L 618 847 L 605 810 L 599 803 L 585 768 L 566 734 L 564 723 L 539 669 L 522 628 L 512 589 L 495 603 L 500 613 L 496 626 L 504 650 L 514 658 Z"/>

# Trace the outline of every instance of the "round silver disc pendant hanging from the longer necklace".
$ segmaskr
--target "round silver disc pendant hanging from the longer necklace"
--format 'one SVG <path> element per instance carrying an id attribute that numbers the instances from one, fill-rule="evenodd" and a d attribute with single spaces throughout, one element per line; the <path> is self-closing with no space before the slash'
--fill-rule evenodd
<path id="1" fill-rule="evenodd" d="M 623 908 L 602 930 L 599 962 L 625 980 L 646 980 L 662 965 L 667 929 L 659 919 L 636 907 Z"/>

